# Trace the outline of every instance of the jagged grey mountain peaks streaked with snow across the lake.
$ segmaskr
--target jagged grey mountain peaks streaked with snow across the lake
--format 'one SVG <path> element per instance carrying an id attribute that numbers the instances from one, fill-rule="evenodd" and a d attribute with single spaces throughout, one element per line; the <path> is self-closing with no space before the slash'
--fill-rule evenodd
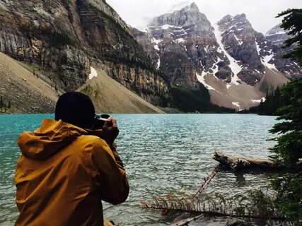
<path id="1" fill-rule="evenodd" d="M 245 14 L 212 25 L 197 4 L 178 7 L 130 29 L 172 87 L 209 90 L 211 102 L 236 109 L 257 105 L 267 88 L 302 76 L 294 61 L 255 31 Z"/>

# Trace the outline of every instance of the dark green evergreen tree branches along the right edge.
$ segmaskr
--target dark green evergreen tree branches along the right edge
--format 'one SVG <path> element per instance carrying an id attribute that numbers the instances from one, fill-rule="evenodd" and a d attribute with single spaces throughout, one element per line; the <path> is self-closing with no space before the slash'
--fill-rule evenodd
<path id="1" fill-rule="evenodd" d="M 286 40 L 284 47 L 290 47 L 296 43 L 297 46 L 283 57 L 296 59 L 302 66 L 302 9 L 289 9 L 278 15 L 284 16 L 281 28 L 289 30 L 291 35 Z M 276 124 L 272 133 L 281 136 L 275 138 L 277 145 L 271 148 L 273 159 L 277 163 L 293 165 L 302 157 L 302 79 L 297 79 L 281 88 L 283 101 L 287 104 L 281 107 L 278 118 L 285 119 Z M 294 225 L 302 222 L 302 171 L 296 174 L 279 175 L 272 181 L 272 187 L 277 193 L 275 204 L 280 212 Z"/>

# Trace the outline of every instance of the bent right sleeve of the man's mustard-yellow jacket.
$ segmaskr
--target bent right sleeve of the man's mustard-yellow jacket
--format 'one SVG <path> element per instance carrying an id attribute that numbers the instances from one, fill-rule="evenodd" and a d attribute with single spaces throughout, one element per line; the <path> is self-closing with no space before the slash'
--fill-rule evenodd
<path id="1" fill-rule="evenodd" d="M 103 201 L 114 205 L 126 201 L 129 184 L 120 156 L 115 144 L 112 148 L 98 138 L 93 145 L 92 162 L 100 176 L 100 194 Z"/>

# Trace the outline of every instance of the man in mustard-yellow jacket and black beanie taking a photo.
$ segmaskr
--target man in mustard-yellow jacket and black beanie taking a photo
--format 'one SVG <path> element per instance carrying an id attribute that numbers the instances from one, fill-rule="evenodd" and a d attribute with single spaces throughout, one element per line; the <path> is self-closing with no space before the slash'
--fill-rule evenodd
<path id="1" fill-rule="evenodd" d="M 55 120 L 18 138 L 16 225 L 106 225 L 101 200 L 119 204 L 129 186 L 115 150 L 115 119 L 92 131 L 95 108 L 82 93 L 59 97 Z"/>

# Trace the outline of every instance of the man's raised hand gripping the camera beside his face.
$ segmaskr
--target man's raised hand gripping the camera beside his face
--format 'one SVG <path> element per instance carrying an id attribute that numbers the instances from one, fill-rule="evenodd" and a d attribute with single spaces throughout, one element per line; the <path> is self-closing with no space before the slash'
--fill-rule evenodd
<path id="1" fill-rule="evenodd" d="M 109 117 L 103 126 L 103 129 L 98 129 L 94 131 L 88 131 L 89 134 L 93 136 L 98 136 L 102 138 L 111 147 L 115 138 L 119 135 L 119 129 L 117 128 L 117 121 L 112 117 Z"/>

